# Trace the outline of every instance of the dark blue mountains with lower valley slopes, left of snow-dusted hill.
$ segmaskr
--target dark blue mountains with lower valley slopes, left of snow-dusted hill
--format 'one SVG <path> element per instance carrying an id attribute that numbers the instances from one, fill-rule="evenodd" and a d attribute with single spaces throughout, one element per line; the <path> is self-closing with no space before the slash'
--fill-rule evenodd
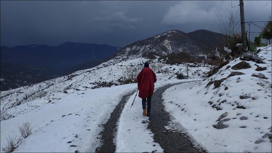
<path id="1" fill-rule="evenodd" d="M 1 91 L 32 85 L 100 64 L 121 47 L 66 42 L 59 46 L 1 46 Z"/>

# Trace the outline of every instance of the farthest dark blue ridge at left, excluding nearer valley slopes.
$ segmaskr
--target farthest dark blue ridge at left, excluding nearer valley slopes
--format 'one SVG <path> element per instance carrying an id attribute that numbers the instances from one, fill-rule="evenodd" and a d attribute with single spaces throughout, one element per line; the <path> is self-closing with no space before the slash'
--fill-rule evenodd
<path id="1" fill-rule="evenodd" d="M 118 51 L 119 47 L 106 44 L 66 42 L 59 46 L 26 45 L 7 48 L 1 46 L 1 64 L 23 63 L 63 71 L 91 60 L 103 60 Z"/>

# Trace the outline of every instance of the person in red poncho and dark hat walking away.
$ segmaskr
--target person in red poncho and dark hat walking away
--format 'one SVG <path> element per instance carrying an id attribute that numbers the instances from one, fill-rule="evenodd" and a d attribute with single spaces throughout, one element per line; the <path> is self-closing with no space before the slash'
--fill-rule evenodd
<path id="1" fill-rule="evenodd" d="M 142 98 L 143 115 L 150 116 L 151 110 L 151 97 L 154 92 L 154 83 L 157 81 L 156 74 L 149 68 L 149 64 L 144 63 L 144 68 L 137 76 L 139 97 Z M 146 99 L 147 99 L 147 110 L 146 110 Z"/>

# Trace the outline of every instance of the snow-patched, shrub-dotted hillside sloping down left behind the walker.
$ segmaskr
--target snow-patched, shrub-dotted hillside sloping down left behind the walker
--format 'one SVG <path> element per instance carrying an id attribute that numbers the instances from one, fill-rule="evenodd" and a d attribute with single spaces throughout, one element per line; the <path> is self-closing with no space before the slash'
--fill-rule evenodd
<path id="1" fill-rule="evenodd" d="M 188 65 L 188 78 L 200 78 L 208 71 L 208 65 L 202 63 L 167 65 L 158 62 L 157 59 L 148 60 L 145 58 L 118 63 L 119 61 L 112 59 L 94 68 L 77 71 L 68 76 L 3 91 L 1 92 L 1 110 L 6 110 L 8 114 L 17 116 L 71 93 L 124 84 L 125 80 L 137 76 L 146 61 L 150 63 L 150 68 L 156 73 L 158 81 L 175 80 L 177 79 L 176 73 L 187 76 Z"/>

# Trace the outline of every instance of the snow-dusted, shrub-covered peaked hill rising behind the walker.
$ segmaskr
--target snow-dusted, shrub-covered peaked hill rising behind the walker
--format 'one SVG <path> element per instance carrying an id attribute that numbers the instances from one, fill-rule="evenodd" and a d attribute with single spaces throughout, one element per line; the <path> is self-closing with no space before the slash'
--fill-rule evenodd
<path id="1" fill-rule="evenodd" d="M 123 58 L 129 60 L 150 55 L 163 56 L 172 52 L 186 52 L 190 55 L 197 56 L 211 51 L 207 50 L 196 38 L 180 30 L 170 30 L 160 35 L 127 45 L 109 59 Z"/>

